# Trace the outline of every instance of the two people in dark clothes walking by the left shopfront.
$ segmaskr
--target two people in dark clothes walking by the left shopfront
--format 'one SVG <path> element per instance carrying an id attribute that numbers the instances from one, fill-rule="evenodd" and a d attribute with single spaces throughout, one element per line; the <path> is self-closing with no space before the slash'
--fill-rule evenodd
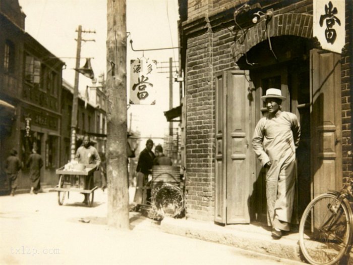
<path id="1" fill-rule="evenodd" d="M 17 176 L 24 165 L 17 157 L 17 150 L 13 148 L 10 151 L 10 156 L 5 161 L 5 171 L 8 175 L 10 195 L 14 196 L 17 189 Z M 37 194 L 40 189 L 40 169 L 43 167 L 43 160 L 40 154 L 37 153 L 37 147 L 33 147 L 32 153 L 29 155 L 26 162 L 26 167 L 29 168 L 29 179 L 31 180 L 31 194 Z"/>

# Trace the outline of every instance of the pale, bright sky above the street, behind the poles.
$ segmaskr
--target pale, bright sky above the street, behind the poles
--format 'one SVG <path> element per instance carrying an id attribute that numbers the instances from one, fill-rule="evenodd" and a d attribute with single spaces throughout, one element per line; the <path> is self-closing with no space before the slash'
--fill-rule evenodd
<path id="1" fill-rule="evenodd" d="M 95 41 L 82 42 L 81 63 L 84 57 L 91 60 L 95 76 L 106 73 L 106 5 L 105 0 L 19 0 L 26 14 L 25 31 L 38 40 L 53 55 L 67 65 L 63 78 L 74 84 L 75 58 L 77 49 L 77 28 L 96 33 L 84 33 L 83 39 Z M 151 49 L 178 46 L 177 21 L 178 0 L 127 0 L 127 61 L 140 59 L 143 56 L 150 60 L 168 62 L 169 58 L 178 61 L 178 49 L 157 51 L 133 51 L 133 48 Z M 130 85 L 130 63 L 127 63 L 128 87 Z M 166 64 L 168 66 L 168 64 Z M 173 65 L 173 75 L 178 68 Z M 167 71 L 168 69 L 166 69 Z M 159 70 L 161 71 L 161 70 Z M 168 123 L 163 112 L 169 110 L 168 73 L 158 74 L 155 105 L 131 105 L 128 109 L 128 129 L 139 131 L 143 137 L 163 137 Z M 89 78 L 80 75 L 79 90 L 84 95 L 86 85 L 91 85 Z M 173 106 L 179 105 L 179 84 L 173 84 Z M 129 93 L 128 93 L 129 94 Z M 131 113 L 131 115 L 130 115 Z M 130 126 L 130 121 L 131 126 Z M 153 124 L 153 126 L 151 126 Z"/>

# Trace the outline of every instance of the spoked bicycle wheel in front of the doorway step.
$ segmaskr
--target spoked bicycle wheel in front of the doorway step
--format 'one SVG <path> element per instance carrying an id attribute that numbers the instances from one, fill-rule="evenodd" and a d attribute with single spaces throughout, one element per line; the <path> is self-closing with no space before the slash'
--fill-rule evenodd
<path id="1" fill-rule="evenodd" d="M 306 207 L 299 226 L 299 243 L 305 258 L 314 265 L 336 263 L 349 248 L 349 203 L 332 193 L 321 194 Z"/>

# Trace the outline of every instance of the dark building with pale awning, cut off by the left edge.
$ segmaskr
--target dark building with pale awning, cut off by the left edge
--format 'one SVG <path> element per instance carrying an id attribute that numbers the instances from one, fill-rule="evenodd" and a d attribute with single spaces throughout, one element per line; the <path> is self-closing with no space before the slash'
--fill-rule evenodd
<path id="1" fill-rule="evenodd" d="M 20 149 L 17 119 L 22 91 L 23 34 L 26 15 L 16 1 L 0 5 L 0 194 L 8 192 L 4 160 Z"/>

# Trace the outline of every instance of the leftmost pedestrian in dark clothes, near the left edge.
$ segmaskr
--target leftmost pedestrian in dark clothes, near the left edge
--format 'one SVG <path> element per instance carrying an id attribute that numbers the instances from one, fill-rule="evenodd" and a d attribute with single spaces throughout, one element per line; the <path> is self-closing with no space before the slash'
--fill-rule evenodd
<path id="1" fill-rule="evenodd" d="M 14 196 L 17 189 L 17 175 L 18 172 L 22 169 L 22 163 L 17 157 L 17 150 L 15 148 L 11 149 L 10 156 L 5 162 L 5 171 L 8 175 L 9 186 L 10 186 L 10 195 Z"/>

